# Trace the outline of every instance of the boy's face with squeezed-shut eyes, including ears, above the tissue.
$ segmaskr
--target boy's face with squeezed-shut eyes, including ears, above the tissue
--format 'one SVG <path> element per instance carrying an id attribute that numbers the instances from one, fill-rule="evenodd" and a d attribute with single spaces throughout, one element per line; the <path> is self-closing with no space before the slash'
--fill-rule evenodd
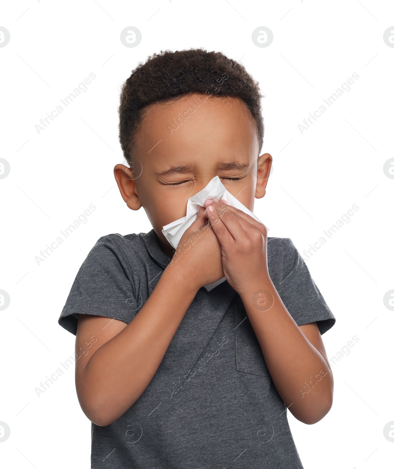
<path id="1" fill-rule="evenodd" d="M 205 93 L 150 106 L 137 131 L 131 171 L 116 165 L 114 173 L 129 208 L 144 207 L 172 251 L 161 230 L 186 215 L 189 197 L 219 176 L 252 211 L 254 198 L 265 194 L 271 163 L 268 153 L 258 159 L 256 124 L 243 101 Z"/>

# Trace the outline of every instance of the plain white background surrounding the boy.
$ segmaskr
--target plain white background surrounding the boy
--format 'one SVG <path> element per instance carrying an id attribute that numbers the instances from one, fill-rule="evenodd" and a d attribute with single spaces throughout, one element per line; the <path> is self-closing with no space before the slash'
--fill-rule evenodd
<path id="1" fill-rule="evenodd" d="M 2 6 L 2 148 L 10 174 L 0 180 L 1 408 L 10 437 L 2 467 L 90 467 L 90 422 L 76 399 L 70 368 L 45 393 L 35 387 L 74 352 L 57 321 L 85 255 L 104 234 L 151 229 L 114 186 L 123 156 L 117 107 L 122 82 L 160 50 L 204 47 L 240 60 L 259 82 L 263 152 L 273 155 L 267 194 L 255 213 L 270 236 L 309 248 L 353 204 L 359 210 L 307 260 L 337 319 L 324 336 L 329 358 L 359 341 L 332 366 L 333 408 L 318 424 L 289 421 L 305 469 L 389 467 L 394 444 L 394 312 L 384 294 L 392 276 L 393 188 L 383 165 L 394 157 L 394 48 L 383 32 L 394 4 L 357 0 L 252 3 L 18 1 Z M 22 15 L 22 16 L 21 16 Z M 138 28 L 127 48 L 120 32 Z M 257 47 L 251 33 L 273 31 Z M 393 28 L 394 30 L 394 28 Z M 97 78 L 39 134 L 35 124 L 93 72 Z M 359 78 L 302 134 L 298 129 L 352 73 Z M 63 106 L 64 107 L 64 106 Z M 327 107 L 327 106 L 326 106 Z M 97 210 L 40 265 L 35 256 L 90 204 Z M 390 462 L 391 461 L 391 462 Z"/>

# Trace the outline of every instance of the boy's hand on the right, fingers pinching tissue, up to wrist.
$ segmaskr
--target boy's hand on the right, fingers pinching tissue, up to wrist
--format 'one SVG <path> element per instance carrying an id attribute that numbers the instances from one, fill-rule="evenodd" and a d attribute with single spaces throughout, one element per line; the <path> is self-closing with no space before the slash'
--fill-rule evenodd
<path id="1" fill-rule="evenodd" d="M 271 283 L 267 266 L 267 228 L 223 200 L 218 203 L 208 199 L 205 207 L 221 245 L 223 272 L 228 283 L 240 295 L 253 292 L 262 282 Z"/>

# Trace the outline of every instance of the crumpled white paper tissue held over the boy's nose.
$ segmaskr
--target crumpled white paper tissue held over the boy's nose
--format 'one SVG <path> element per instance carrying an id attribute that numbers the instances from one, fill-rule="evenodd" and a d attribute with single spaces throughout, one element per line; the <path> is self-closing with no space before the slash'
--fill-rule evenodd
<path id="1" fill-rule="evenodd" d="M 222 182 L 220 181 L 219 176 L 215 176 L 211 181 L 205 186 L 204 189 L 197 192 L 196 195 L 190 197 L 188 200 L 188 205 L 186 209 L 186 216 L 182 217 L 178 220 L 169 223 L 161 232 L 166 237 L 167 241 L 171 244 L 171 246 L 176 249 L 178 247 L 179 242 L 181 241 L 183 233 L 189 228 L 189 226 L 195 221 L 197 218 L 197 211 L 198 207 L 204 207 L 204 203 L 206 199 L 212 199 L 215 202 L 219 202 L 220 199 L 227 200 L 227 205 L 231 205 L 242 212 L 247 213 L 251 217 L 253 217 L 258 222 L 262 223 L 253 212 L 250 212 L 248 208 L 241 204 L 241 202 L 236 199 L 233 195 L 231 195 L 227 189 L 223 186 Z M 268 231 L 268 228 L 267 228 Z M 209 285 L 205 285 L 205 288 L 208 291 L 211 291 L 212 288 L 217 287 L 220 283 L 224 282 L 226 277 L 218 280 L 217 282 L 210 283 Z"/>

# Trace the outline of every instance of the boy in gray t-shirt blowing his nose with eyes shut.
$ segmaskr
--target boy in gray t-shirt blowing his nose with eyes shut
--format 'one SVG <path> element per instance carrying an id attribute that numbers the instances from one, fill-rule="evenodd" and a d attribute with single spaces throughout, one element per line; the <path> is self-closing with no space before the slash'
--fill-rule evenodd
<path id="1" fill-rule="evenodd" d="M 154 54 L 123 86 L 130 168 L 115 179 L 153 229 L 100 238 L 59 319 L 94 468 L 302 468 L 287 408 L 305 424 L 331 408 L 320 334 L 335 319 L 291 240 L 226 200 L 199 207 L 176 251 L 162 233 L 215 176 L 250 211 L 264 197 L 260 98 L 242 65 L 202 49 Z"/>

